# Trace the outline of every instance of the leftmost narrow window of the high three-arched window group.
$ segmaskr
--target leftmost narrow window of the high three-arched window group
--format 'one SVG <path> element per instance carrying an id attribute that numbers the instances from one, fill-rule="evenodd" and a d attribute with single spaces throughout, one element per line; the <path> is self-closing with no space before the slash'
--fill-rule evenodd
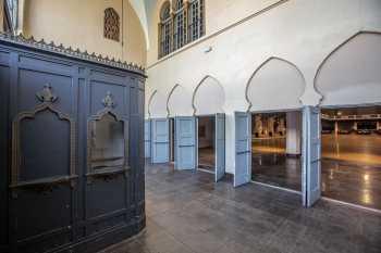
<path id="1" fill-rule="evenodd" d="M 164 2 L 160 12 L 160 56 L 164 56 L 171 52 L 171 37 L 172 37 L 172 18 L 171 4 L 169 1 Z"/>

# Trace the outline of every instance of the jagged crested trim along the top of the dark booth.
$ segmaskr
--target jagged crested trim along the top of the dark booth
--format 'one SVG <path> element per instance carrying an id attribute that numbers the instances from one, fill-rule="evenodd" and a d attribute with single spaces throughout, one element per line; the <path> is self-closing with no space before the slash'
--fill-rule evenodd
<path id="1" fill-rule="evenodd" d="M 25 38 L 22 34 L 19 36 L 15 36 L 9 33 L 0 33 L 0 43 L 3 43 L 3 42 L 23 46 L 35 50 L 42 50 L 47 53 L 57 53 L 60 55 L 73 58 L 81 61 L 88 61 L 91 63 L 116 67 L 123 71 L 135 72 L 143 76 L 146 76 L 145 68 L 136 64 L 127 63 L 125 61 L 122 62 L 121 60 L 115 60 L 114 58 L 112 59 L 110 59 L 109 56 L 105 58 L 102 56 L 102 54 L 97 55 L 95 52 L 90 54 L 87 52 L 87 50 L 83 52 L 79 49 L 75 50 L 72 47 L 65 48 L 62 43 L 57 46 L 54 41 L 51 41 L 50 43 L 47 43 L 44 39 L 41 39 L 40 41 L 37 41 L 33 36 L 29 38 Z"/>

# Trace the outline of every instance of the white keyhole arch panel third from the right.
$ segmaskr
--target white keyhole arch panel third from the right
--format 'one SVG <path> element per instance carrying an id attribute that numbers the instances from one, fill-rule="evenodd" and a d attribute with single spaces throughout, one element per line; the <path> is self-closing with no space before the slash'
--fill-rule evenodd
<path id="1" fill-rule="evenodd" d="M 221 83 L 210 75 L 204 77 L 192 97 L 193 114 L 210 115 L 223 113 L 224 104 L 225 91 Z"/>

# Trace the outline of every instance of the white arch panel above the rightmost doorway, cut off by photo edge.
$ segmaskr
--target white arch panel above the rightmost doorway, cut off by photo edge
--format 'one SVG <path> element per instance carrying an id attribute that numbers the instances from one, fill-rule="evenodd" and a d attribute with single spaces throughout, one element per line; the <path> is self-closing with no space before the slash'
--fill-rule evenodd
<path id="1" fill-rule="evenodd" d="M 334 48 L 320 63 L 314 86 L 322 105 L 381 102 L 381 33 L 361 30 Z"/>

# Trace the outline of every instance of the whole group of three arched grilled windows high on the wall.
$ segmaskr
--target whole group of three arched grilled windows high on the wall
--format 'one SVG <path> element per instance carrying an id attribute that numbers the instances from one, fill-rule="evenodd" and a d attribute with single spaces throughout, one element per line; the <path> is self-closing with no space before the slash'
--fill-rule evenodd
<path id="1" fill-rule="evenodd" d="M 159 58 L 205 35 L 204 1 L 171 0 L 163 3 L 159 24 Z"/>

